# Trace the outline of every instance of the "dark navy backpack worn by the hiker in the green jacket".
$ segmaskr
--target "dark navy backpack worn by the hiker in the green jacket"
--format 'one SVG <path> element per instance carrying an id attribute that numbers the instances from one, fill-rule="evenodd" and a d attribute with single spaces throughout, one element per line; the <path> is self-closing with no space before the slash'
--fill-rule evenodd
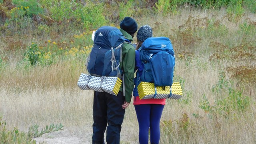
<path id="1" fill-rule="evenodd" d="M 94 76 L 121 77 L 122 44 L 127 41 L 118 28 L 102 26 L 94 36 L 92 51 L 87 60 L 87 70 Z"/>

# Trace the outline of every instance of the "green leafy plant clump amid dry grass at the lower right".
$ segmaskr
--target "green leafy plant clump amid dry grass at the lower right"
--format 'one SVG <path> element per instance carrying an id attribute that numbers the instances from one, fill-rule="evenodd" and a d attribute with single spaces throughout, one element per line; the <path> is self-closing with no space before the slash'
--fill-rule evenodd
<path id="1" fill-rule="evenodd" d="M 199 108 L 206 113 L 229 116 L 232 112 L 243 112 L 250 106 L 250 97 L 243 96 L 242 90 L 234 89 L 233 82 L 227 81 L 223 72 L 218 83 L 212 87 L 212 93 L 218 95 L 213 106 L 210 106 L 205 94 L 199 102 Z"/>

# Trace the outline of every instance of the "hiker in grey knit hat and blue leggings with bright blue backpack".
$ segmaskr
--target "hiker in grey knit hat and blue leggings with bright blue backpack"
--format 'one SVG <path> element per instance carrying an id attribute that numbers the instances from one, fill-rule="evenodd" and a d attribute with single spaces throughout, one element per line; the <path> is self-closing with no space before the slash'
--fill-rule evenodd
<path id="1" fill-rule="evenodd" d="M 166 98 L 157 97 L 156 86 L 165 88 L 165 86 L 172 85 L 172 68 L 174 67 L 174 57 L 165 52 L 167 47 L 172 49 L 168 38 L 152 37 L 152 28 L 148 25 L 139 28 L 135 52 L 136 78 L 134 78 L 133 104 L 139 124 L 140 144 L 148 144 L 149 129 L 150 143 L 158 144 L 160 141 L 160 118 Z M 164 79 L 168 81 L 168 84 L 163 84 Z M 138 92 L 140 82 L 155 84 L 153 98 L 140 99 Z"/>

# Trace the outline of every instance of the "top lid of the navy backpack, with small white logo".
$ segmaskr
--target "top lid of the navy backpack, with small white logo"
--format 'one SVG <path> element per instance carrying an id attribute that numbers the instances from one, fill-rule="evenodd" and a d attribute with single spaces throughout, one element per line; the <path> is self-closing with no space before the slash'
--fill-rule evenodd
<path id="1" fill-rule="evenodd" d="M 95 32 L 94 44 L 103 48 L 116 48 L 124 42 L 124 39 L 122 32 L 118 28 L 102 26 Z"/>

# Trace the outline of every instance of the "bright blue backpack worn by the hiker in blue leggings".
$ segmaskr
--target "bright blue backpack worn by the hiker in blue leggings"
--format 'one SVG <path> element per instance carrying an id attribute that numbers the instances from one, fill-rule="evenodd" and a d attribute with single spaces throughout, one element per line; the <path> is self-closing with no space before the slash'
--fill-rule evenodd
<path id="1" fill-rule="evenodd" d="M 144 64 L 142 82 L 152 82 L 155 87 L 172 86 L 175 57 L 169 38 L 147 38 L 140 47 L 140 60 Z"/>

